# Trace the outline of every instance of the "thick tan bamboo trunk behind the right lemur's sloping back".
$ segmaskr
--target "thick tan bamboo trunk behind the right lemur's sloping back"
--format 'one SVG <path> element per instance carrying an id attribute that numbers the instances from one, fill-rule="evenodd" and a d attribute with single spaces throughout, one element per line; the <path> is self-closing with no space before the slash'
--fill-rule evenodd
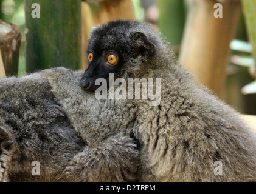
<path id="1" fill-rule="evenodd" d="M 216 95 L 220 95 L 229 63 L 229 44 L 235 34 L 240 1 L 220 1 L 223 18 L 215 18 L 214 0 L 192 0 L 179 60 Z"/>

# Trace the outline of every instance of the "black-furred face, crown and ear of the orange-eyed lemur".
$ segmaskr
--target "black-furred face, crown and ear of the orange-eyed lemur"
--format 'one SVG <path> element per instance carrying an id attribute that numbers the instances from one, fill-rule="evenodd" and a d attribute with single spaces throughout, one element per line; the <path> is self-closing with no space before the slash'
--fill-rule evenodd
<path id="1" fill-rule="evenodd" d="M 95 92 L 100 87 L 95 85 L 96 79 L 108 81 L 109 73 L 114 73 L 115 79 L 121 78 L 133 59 L 146 55 L 150 46 L 153 52 L 154 45 L 143 33 L 132 32 L 136 24 L 139 23 L 116 21 L 92 30 L 87 49 L 89 66 L 80 81 L 83 90 Z"/>

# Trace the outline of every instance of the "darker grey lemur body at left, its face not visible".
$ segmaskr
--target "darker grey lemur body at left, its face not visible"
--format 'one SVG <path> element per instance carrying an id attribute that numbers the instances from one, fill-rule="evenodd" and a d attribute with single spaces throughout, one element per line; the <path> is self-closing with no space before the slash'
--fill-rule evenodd
<path id="1" fill-rule="evenodd" d="M 88 146 L 50 90 L 43 72 L 0 79 L 0 181 L 135 181 L 133 139 L 116 133 Z"/>

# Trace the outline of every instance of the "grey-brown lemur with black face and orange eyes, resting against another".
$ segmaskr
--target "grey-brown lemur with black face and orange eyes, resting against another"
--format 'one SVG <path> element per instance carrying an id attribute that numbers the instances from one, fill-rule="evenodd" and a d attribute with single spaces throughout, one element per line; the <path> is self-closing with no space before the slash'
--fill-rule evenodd
<path id="1" fill-rule="evenodd" d="M 140 146 L 140 181 L 255 181 L 255 134 L 235 110 L 177 64 L 164 39 L 148 25 L 120 20 L 94 28 L 87 53 L 83 90 L 94 92 L 99 87 L 95 80 L 108 79 L 109 73 L 127 82 L 161 78 L 159 105 L 150 106 L 145 99 L 102 100 L 95 103 L 109 104 L 108 117 L 91 121 L 106 131 L 116 125 L 134 135 Z M 85 112 L 89 118 L 95 113 Z M 106 109 L 97 113 L 102 112 Z M 118 120 L 122 125 L 113 125 Z M 222 164 L 221 174 L 215 173 L 216 161 Z"/>

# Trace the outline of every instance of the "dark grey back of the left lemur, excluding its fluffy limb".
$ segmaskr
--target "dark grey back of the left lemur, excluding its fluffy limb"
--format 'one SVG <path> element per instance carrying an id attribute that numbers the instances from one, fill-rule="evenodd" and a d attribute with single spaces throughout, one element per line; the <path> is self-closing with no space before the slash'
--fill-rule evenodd
<path id="1" fill-rule="evenodd" d="M 34 73 L 0 79 L 0 91 L 0 127 L 12 145 L 12 159 L 5 164 L 10 181 L 55 181 L 85 143 L 50 92 L 47 78 Z M 40 162 L 40 176 L 32 175 L 33 161 Z"/>

